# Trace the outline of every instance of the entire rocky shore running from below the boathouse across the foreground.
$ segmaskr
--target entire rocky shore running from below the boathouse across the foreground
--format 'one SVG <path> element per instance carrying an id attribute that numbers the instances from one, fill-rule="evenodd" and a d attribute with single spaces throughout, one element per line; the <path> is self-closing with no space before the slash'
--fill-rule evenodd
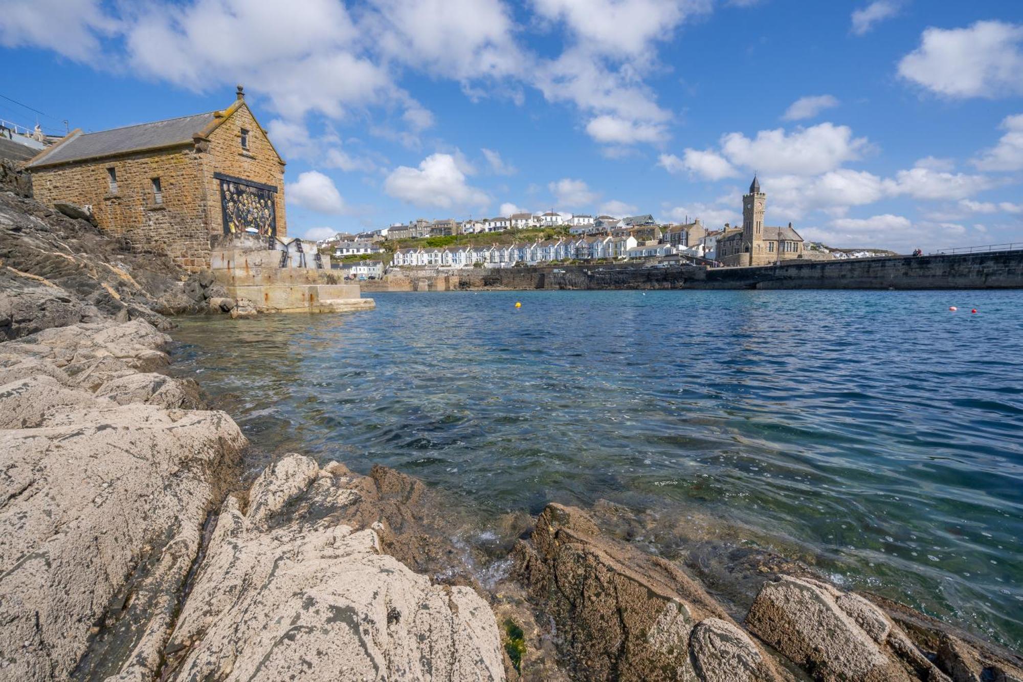
<path id="1" fill-rule="evenodd" d="M 216 285 L 6 189 L 2 679 L 1023 682 L 784 557 L 730 557 L 729 591 L 608 508 L 509 518 L 494 562 L 394 470 L 290 454 L 250 483 L 237 425 L 167 375 L 166 315 L 231 309 Z"/>

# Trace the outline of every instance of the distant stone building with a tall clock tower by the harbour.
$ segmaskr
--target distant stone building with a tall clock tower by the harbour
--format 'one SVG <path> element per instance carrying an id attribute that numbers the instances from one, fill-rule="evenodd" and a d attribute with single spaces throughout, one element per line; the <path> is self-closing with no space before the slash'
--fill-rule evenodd
<path id="1" fill-rule="evenodd" d="M 764 226 L 767 195 L 756 177 L 743 196 L 743 227 L 725 229 L 717 240 L 716 258 L 724 265 L 769 265 L 803 257 L 803 238 L 792 228 Z"/>

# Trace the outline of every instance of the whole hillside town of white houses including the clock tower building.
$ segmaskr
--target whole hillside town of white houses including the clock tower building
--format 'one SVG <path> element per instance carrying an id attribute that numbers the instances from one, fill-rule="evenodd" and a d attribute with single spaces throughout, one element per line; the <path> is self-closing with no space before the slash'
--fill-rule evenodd
<path id="1" fill-rule="evenodd" d="M 767 195 L 754 177 L 743 197 L 743 224 L 708 228 L 699 218 L 661 223 L 652 214 L 614 217 L 553 210 L 494 218 L 416 218 L 317 243 L 348 279 L 376 279 L 389 268 L 515 267 L 593 261 L 687 262 L 708 267 L 769 265 L 875 255 L 807 243 L 792 223 L 764 225 Z M 519 232 L 528 239 L 516 239 Z M 501 233 L 498 239 L 498 233 Z M 488 243 L 486 237 L 494 236 Z M 539 235 L 539 236 L 537 236 Z M 454 238 L 465 243 L 443 244 Z M 511 237 L 508 242 L 505 237 Z M 447 238 L 447 239 L 445 239 Z M 437 244 L 441 242 L 442 244 Z M 390 262 L 387 259 L 390 258 Z"/>

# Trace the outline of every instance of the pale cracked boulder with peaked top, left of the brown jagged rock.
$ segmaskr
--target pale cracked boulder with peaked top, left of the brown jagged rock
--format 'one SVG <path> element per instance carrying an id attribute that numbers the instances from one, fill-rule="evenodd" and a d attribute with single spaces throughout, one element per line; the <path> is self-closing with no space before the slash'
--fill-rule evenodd
<path id="1" fill-rule="evenodd" d="M 342 523 L 351 473 L 290 455 L 230 497 L 167 646 L 168 680 L 502 680 L 493 613 Z"/>

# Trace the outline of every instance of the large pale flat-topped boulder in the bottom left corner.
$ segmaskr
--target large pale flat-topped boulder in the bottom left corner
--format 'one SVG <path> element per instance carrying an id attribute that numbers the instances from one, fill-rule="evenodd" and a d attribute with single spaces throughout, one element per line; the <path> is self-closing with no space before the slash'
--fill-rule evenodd
<path id="1" fill-rule="evenodd" d="M 155 671 L 244 444 L 223 413 L 140 404 L 0 431 L 4 679 Z"/>

